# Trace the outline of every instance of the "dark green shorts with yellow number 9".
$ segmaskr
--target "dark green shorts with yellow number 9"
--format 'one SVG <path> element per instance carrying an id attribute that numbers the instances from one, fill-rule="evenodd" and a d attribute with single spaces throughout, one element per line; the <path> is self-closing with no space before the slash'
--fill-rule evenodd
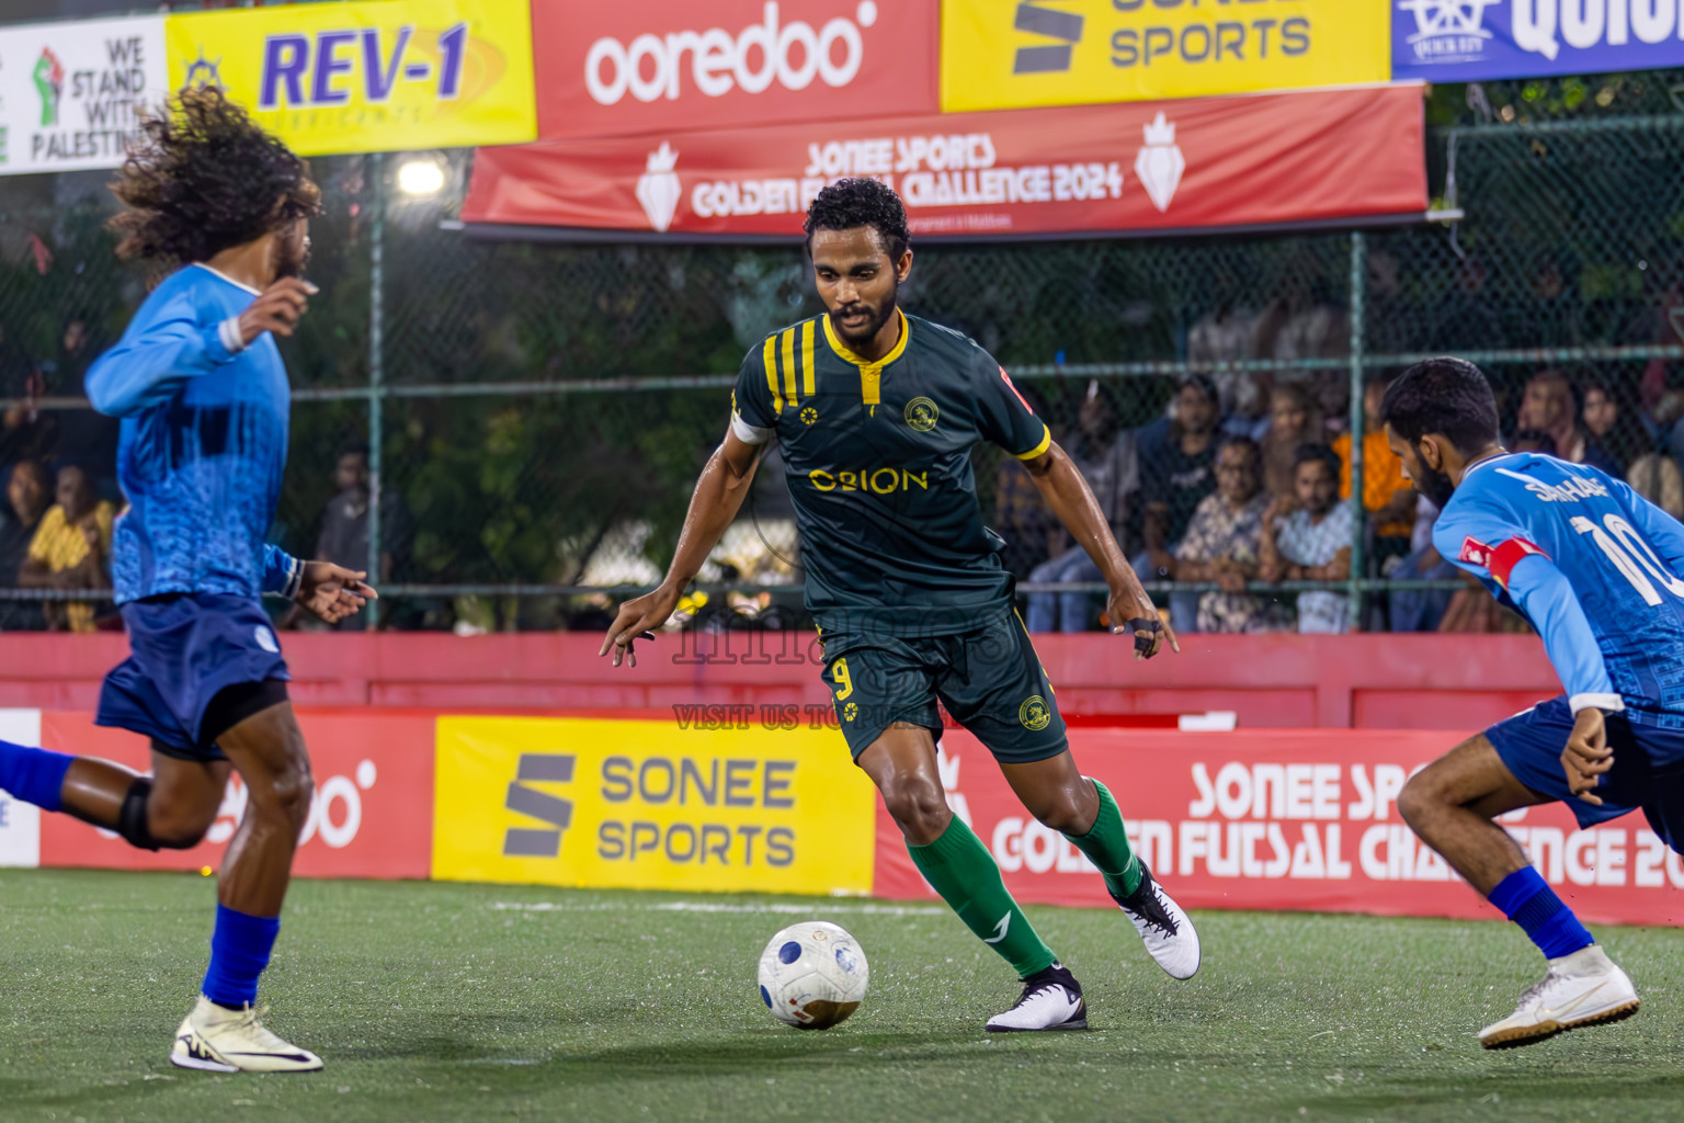
<path id="1" fill-rule="evenodd" d="M 823 680 L 854 759 L 898 721 L 940 741 L 938 699 L 1005 764 L 1066 748 L 1052 684 L 1015 613 L 945 636 L 825 633 L 823 650 Z"/>

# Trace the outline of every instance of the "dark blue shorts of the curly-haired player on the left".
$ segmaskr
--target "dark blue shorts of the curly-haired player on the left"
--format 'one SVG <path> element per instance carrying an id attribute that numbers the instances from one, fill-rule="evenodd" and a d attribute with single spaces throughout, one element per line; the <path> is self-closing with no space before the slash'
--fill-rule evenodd
<path id="1" fill-rule="evenodd" d="M 210 700 L 232 685 L 291 679 L 269 616 L 253 598 L 184 593 L 130 601 L 121 611 L 131 653 L 106 675 L 94 724 L 152 737 L 170 756 L 226 759 L 200 737 Z"/>

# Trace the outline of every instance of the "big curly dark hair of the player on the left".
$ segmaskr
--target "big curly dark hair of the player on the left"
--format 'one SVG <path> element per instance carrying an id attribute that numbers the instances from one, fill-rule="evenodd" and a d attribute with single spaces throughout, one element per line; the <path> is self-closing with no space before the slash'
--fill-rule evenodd
<path id="1" fill-rule="evenodd" d="M 118 254 L 172 268 L 207 261 L 322 214 L 310 165 L 221 89 L 184 91 L 148 116 L 111 184 Z"/>

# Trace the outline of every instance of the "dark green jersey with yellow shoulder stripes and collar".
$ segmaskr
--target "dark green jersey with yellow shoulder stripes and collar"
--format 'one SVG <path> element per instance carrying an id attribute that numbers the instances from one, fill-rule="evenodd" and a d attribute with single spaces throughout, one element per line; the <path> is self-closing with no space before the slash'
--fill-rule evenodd
<path id="1" fill-rule="evenodd" d="M 783 451 L 820 628 L 933 636 L 1010 606 L 1005 542 L 982 522 L 970 453 L 1019 460 L 1052 434 L 973 340 L 918 317 L 881 362 L 855 355 L 829 317 L 768 335 L 743 360 L 733 429 Z"/>

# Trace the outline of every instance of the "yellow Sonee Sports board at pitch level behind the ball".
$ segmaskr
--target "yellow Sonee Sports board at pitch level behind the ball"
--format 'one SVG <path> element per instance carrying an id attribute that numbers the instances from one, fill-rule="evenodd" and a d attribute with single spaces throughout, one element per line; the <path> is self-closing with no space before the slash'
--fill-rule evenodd
<path id="1" fill-rule="evenodd" d="M 871 892 L 876 793 L 842 736 L 716 724 L 441 717 L 433 877 Z"/>

